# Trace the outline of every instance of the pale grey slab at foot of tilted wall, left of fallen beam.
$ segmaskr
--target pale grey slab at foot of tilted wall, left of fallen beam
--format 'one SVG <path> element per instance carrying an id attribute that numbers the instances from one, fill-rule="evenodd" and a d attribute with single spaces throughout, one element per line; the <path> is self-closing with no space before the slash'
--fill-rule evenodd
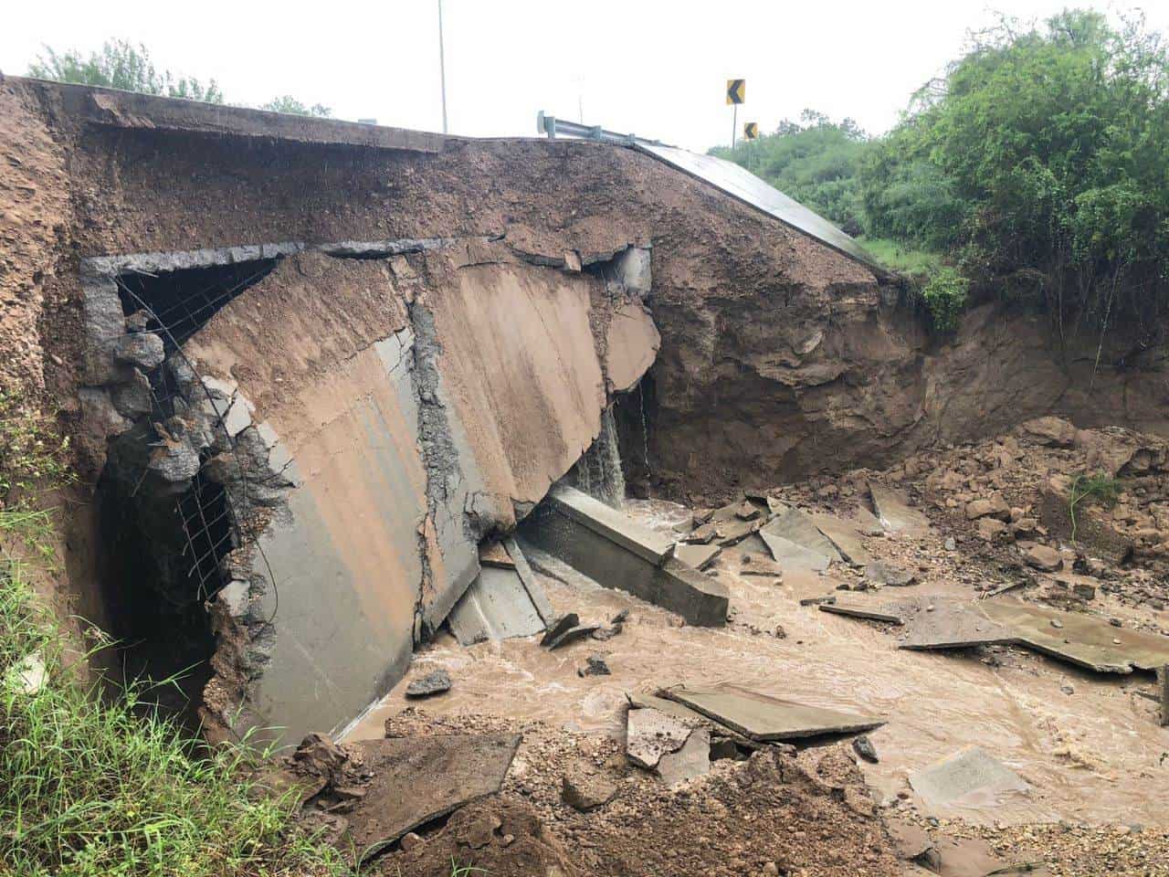
<path id="1" fill-rule="evenodd" d="M 500 565 L 479 569 L 447 616 L 447 624 L 461 645 L 534 636 L 545 629 L 516 567 Z"/>

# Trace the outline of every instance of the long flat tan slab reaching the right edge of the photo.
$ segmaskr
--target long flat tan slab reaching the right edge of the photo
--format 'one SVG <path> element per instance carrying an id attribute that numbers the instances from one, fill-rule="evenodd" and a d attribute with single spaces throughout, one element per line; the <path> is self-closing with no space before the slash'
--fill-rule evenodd
<path id="1" fill-rule="evenodd" d="M 1169 664 L 1169 637 L 1118 629 L 1098 615 L 1009 598 L 984 600 L 978 608 L 991 621 L 1010 628 L 1021 644 L 1088 670 L 1128 674 L 1136 668 L 1154 672 Z M 1052 627 L 1052 621 L 1063 627 Z"/>

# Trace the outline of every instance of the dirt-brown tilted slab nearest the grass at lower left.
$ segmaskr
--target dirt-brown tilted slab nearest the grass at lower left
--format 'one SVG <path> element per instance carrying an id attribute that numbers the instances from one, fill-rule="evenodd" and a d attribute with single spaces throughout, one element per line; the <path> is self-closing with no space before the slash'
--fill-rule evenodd
<path id="1" fill-rule="evenodd" d="M 407 831 L 494 794 L 519 741 L 519 734 L 440 734 L 353 744 L 374 775 L 348 817 L 354 848 L 368 858 Z"/>

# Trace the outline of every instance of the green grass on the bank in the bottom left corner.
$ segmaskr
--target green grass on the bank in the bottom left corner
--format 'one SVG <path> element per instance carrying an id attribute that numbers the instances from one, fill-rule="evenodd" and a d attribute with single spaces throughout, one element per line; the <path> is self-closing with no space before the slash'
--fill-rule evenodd
<path id="1" fill-rule="evenodd" d="M 49 420 L 0 393 L 0 877 L 350 873 L 293 826 L 296 792 L 255 779 L 264 753 L 202 747 L 146 705 L 144 684 L 111 695 L 67 660 L 32 581 L 57 568 L 40 506 L 71 478 L 67 451 Z"/>

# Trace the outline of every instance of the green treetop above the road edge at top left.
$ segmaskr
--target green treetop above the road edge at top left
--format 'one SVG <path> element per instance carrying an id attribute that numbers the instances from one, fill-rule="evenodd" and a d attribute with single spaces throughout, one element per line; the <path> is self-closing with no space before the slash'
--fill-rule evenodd
<path id="1" fill-rule="evenodd" d="M 145 46 L 131 46 L 125 40 L 106 41 L 101 51 L 92 51 L 89 57 L 83 57 L 76 49 L 58 53 L 46 46 L 44 53 L 29 64 L 28 75 L 41 80 L 223 103 L 223 92 L 215 80 L 203 84 L 193 76 L 175 76 L 170 70 L 160 72 Z"/>

